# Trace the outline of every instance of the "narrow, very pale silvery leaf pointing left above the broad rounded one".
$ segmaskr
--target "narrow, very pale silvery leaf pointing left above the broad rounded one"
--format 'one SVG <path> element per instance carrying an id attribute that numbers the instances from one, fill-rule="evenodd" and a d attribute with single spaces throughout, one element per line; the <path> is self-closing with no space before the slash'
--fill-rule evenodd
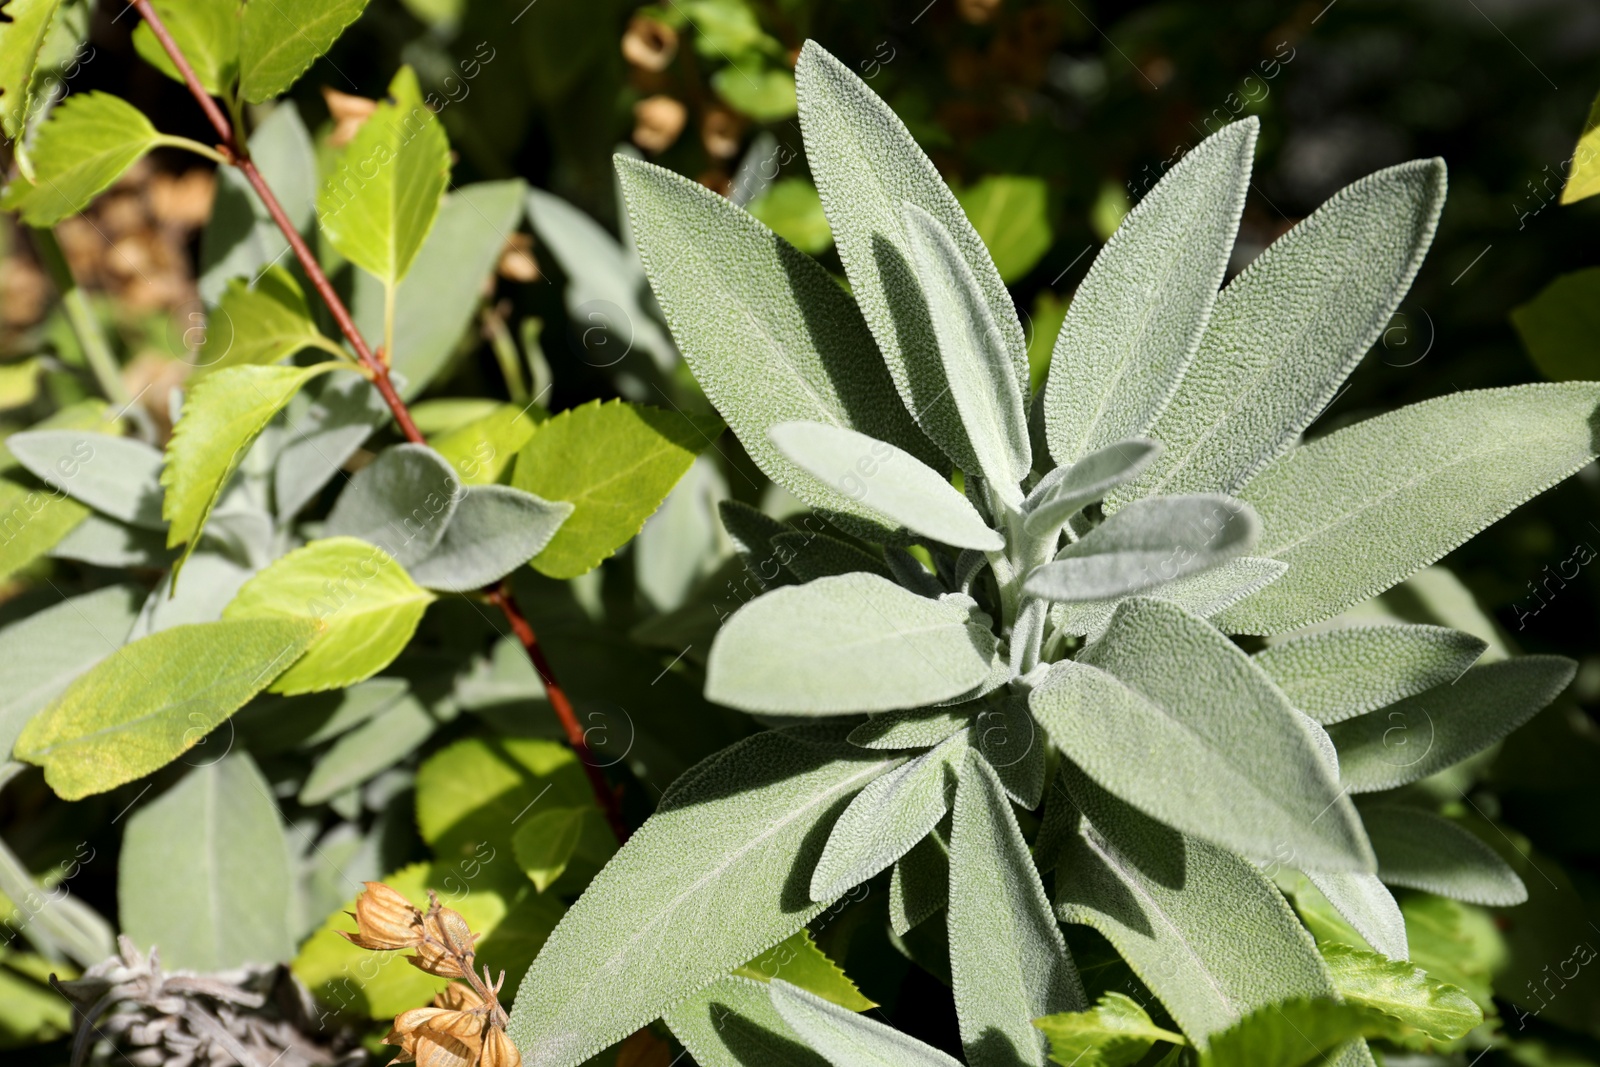
<path id="1" fill-rule="evenodd" d="M 778 422 L 766 437 L 790 462 L 886 526 L 906 526 L 957 549 L 1005 547 L 1005 537 L 944 475 L 888 442 L 822 422 Z"/>

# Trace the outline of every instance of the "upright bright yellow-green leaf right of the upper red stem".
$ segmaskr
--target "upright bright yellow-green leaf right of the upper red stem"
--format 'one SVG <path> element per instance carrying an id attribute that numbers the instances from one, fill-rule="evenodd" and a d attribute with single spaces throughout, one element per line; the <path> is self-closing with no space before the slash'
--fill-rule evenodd
<path id="1" fill-rule="evenodd" d="M 282 2 L 293 8 L 315 0 Z M 365 0 L 341 0 L 325 6 L 322 18 L 341 13 L 354 18 L 363 5 Z M 256 0 L 245 8 L 246 83 L 251 70 L 248 13 L 254 8 L 275 10 L 277 3 Z M 288 30 L 288 37 L 304 40 L 294 30 Z M 362 123 L 339 165 L 317 192 L 323 235 L 350 262 L 390 286 L 405 278 L 434 229 L 450 178 L 450 141 L 443 125 L 421 99 L 410 99 L 403 88 L 397 88 L 405 85 L 408 74 L 406 67 L 395 77 L 390 86 L 395 99 L 379 104 Z"/>

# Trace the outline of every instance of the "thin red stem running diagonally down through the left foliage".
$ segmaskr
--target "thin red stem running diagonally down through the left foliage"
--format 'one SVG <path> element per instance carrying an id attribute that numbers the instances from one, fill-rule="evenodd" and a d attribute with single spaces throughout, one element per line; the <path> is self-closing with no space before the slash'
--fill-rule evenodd
<path id="1" fill-rule="evenodd" d="M 414 445 L 427 445 L 422 440 L 422 434 L 416 429 L 416 422 L 411 419 L 411 411 L 406 408 L 405 400 L 395 390 L 394 381 L 389 378 L 389 362 L 382 358 L 368 347 L 366 339 L 362 338 L 362 331 L 355 328 L 355 320 L 350 318 L 349 309 L 344 301 L 339 299 L 338 291 L 334 291 L 333 283 L 328 275 L 323 274 L 322 264 L 312 254 L 310 248 L 301 238 L 299 230 L 290 221 L 290 216 L 283 211 L 283 205 L 272 194 L 267 181 L 256 170 L 256 165 L 250 158 L 250 149 L 237 136 L 234 126 L 227 122 L 227 115 L 218 107 L 211 94 L 205 91 L 200 85 L 195 69 L 189 66 L 187 56 L 173 40 L 173 35 L 166 30 L 166 24 L 150 6 L 150 0 L 133 0 L 133 6 L 139 11 L 144 21 L 149 24 L 150 32 L 155 34 L 155 40 L 162 43 L 166 50 L 166 56 L 178 67 L 178 72 L 184 75 L 184 85 L 189 86 L 189 93 L 194 94 L 195 101 L 200 102 L 200 110 L 205 112 L 206 118 L 211 120 L 211 126 L 216 128 L 218 138 L 221 138 L 222 155 L 240 171 L 243 171 L 245 179 L 250 182 L 256 195 L 261 197 L 261 203 L 266 205 L 267 214 L 277 222 L 278 229 L 283 230 L 285 240 L 288 240 L 290 248 L 294 250 L 294 258 L 299 259 L 301 267 L 306 270 L 306 277 L 310 278 L 312 286 L 322 296 L 328 310 L 333 314 L 333 320 L 339 325 L 339 331 L 355 349 L 355 358 L 360 362 L 362 368 L 373 379 L 373 386 L 378 387 L 379 395 L 382 395 L 384 403 L 389 405 L 389 411 L 394 413 L 395 424 L 405 438 Z M 539 672 L 539 680 L 544 683 L 544 691 L 550 699 L 550 707 L 555 710 L 555 717 L 562 721 L 562 729 L 566 731 L 566 742 L 578 753 L 578 760 L 584 765 L 584 773 L 589 776 L 589 785 L 594 789 L 595 801 L 605 813 L 606 822 L 611 824 L 611 832 L 616 833 L 618 843 L 627 840 L 629 830 L 627 822 L 622 821 L 622 805 L 618 790 L 605 779 L 605 771 L 595 763 L 594 752 L 589 749 L 589 741 L 584 737 L 584 728 L 578 723 L 578 713 L 573 710 L 573 702 L 566 697 L 566 691 L 562 689 L 560 683 L 555 680 L 555 672 L 550 669 L 550 661 L 546 659 L 544 649 L 539 648 L 539 638 L 528 624 L 528 617 L 517 606 L 517 600 L 510 593 L 510 587 L 506 582 L 496 582 L 483 590 L 490 601 L 499 606 L 501 613 L 506 616 L 506 622 L 510 624 L 512 632 L 517 640 L 522 641 L 523 649 L 528 653 L 528 659 L 533 661 L 533 669 Z"/>

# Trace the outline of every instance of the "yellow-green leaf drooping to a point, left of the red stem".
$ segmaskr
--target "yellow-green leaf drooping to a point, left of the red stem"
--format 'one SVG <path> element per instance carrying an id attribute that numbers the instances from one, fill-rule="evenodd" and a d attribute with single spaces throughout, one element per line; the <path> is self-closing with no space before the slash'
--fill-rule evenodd
<path id="1" fill-rule="evenodd" d="M 166 547 L 184 545 L 173 565 L 174 577 L 261 430 L 306 382 L 336 366 L 230 366 L 206 374 L 189 390 L 162 469 Z"/>

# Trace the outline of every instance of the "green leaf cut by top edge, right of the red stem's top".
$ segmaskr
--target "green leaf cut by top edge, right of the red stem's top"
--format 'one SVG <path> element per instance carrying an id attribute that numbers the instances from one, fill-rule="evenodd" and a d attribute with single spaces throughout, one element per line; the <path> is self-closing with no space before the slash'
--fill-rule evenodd
<path id="1" fill-rule="evenodd" d="M 339 40 L 366 0 L 250 0 L 238 27 L 238 93 L 272 99 Z"/>

